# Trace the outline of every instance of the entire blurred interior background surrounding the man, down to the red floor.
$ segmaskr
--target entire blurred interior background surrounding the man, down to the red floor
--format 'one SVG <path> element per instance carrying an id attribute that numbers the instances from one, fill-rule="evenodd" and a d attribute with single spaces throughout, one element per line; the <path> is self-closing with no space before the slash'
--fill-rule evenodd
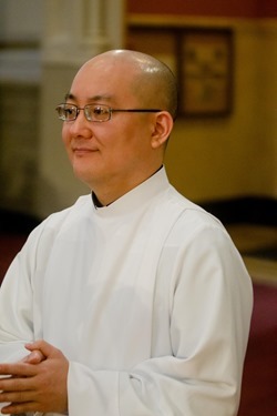
<path id="1" fill-rule="evenodd" d="M 54 108 L 83 62 L 115 48 L 151 53 L 177 77 L 167 173 L 244 256 L 256 302 L 239 415 L 276 415 L 275 0 L 0 0 L 0 273 L 33 226 L 89 192 Z"/>

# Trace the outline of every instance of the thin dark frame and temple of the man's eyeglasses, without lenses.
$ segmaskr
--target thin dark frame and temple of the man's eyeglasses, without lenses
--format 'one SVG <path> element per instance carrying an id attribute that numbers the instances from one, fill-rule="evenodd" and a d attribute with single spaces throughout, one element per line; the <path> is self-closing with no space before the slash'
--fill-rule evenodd
<path id="1" fill-rule="evenodd" d="M 86 104 L 82 108 L 82 106 L 78 106 L 75 104 L 70 104 L 68 102 L 57 105 L 55 111 L 59 112 L 59 109 L 61 109 L 63 105 L 70 105 L 71 108 L 75 109 L 75 111 L 76 111 L 75 115 L 74 115 L 74 119 L 71 119 L 71 120 L 66 120 L 66 119 L 58 115 L 59 120 L 62 120 L 62 121 L 65 121 L 65 122 L 75 121 L 78 115 L 80 114 L 80 110 L 84 111 L 84 116 L 88 121 L 95 122 L 95 123 L 103 123 L 103 122 L 110 121 L 111 118 L 112 118 L 112 113 L 115 113 L 115 112 L 122 112 L 122 113 L 158 113 L 158 112 L 163 111 L 161 109 L 113 109 L 113 108 L 111 108 L 106 104 Z M 109 113 L 107 119 L 106 120 L 91 120 L 91 119 L 89 119 L 88 114 L 85 112 L 85 109 L 90 108 L 92 105 L 95 105 L 95 106 L 99 105 L 100 108 L 104 106 L 107 110 L 107 113 Z"/>

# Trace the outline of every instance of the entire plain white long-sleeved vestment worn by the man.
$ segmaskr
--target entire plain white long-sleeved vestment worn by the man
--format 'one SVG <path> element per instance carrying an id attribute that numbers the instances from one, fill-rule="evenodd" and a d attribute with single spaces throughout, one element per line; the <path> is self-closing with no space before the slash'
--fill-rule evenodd
<path id="1" fill-rule="evenodd" d="M 39 338 L 61 349 L 70 416 L 233 416 L 252 306 L 225 229 L 162 169 L 30 234 L 1 287 L 0 362 Z"/>

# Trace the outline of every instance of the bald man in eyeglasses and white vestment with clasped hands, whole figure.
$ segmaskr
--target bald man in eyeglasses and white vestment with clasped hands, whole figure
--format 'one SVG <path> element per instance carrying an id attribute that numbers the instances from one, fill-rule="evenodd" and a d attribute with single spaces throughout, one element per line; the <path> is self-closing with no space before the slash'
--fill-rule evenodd
<path id="1" fill-rule="evenodd" d="M 4 278 L 3 414 L 236 414 L 252 285 L 220 223 L 167 181 L 176 91 L 166 65 L 116 50 L 57 108 L 91 194 L 42 222 Z"/>

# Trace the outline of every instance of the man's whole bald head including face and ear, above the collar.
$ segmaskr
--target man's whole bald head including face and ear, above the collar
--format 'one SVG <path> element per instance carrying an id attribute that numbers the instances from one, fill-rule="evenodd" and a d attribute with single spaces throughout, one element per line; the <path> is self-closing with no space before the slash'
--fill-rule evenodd
<path id="1" fill-rule="evenodd" d="M 66 104 L 73 119 L 63 123 L 63 142 L 76 176 L 103 205 L 163 164 L 176 83 L 162 62 L 126 50 L 99 54 L 80 68 Z"/>

